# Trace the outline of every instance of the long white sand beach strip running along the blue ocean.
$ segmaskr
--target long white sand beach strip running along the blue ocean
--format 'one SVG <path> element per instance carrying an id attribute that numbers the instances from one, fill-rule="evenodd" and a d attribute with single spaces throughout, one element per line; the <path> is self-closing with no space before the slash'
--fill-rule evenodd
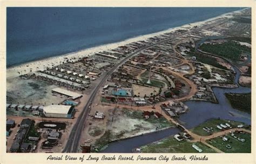
<path id="1" fill-rule="evenodd" d="M 167 32 L 174 32 L 180 29 L 191 29 L 193 28 L 193 26 L 201 26 L 204 23 L 210 23 L 216 19 L 221 19 L 221 18 L 232 18 L 233 14 L 235 13 L 240 13 L 243 10 L 246 10 L 248 8 L 245 9 L 241 9 L 241 10 L 237 10 L 237 11 L 232 11 L 232 12 L 227 12 L 224 13 L 222 15 L 219 15 L 217 17 L 213 17 L 213 18 L 209 18 L 200 22 L 194 22 L 194 23 L 189 23 L 189 24 L 184 24 L 181 26 L 177 26 L 174 28 L 170 28 L 167 30 L 163 30 L 163 31 L 159 31 L 159 32 L 154 32 L 154 33 L 149 33 L 147 35 L 142 35 L 142 36 L 137 36 L 137 37 L 132 37 L 132 38 L 128 38 L 125 39 L 123 41 L 120 42 L 114 42 L 114 43 L 109 43 L 109 44 L 104 44 L 104 45 L 99 45 L 99 46 L 95 46 L 95 47 L 91 47 L 88 49 L 83 49 L 83 50 L 79 50 L 79 51 L 75 51 L 75 52 L 71 52 L 71 53 L 66 53 L 60 56 L 55 56 L 55 57 L 50 57 L 50 58 L 43 58 L 41 60 L 35 60 L 35 61 L 30 61 L 28 63 L 23 63 L 20 65 L 15 65 L 15 66 L 11 66 L 6 68 L 6 78 L 15 78 L 18 77 L 22 74 L 26 74 L 29 72 L 36 72 L 39 70 L 45 70 L 46 67 L 55 67 L 57 65 L 60 65 L 64 62 L 66 62 L 67 59 L 69 60 L 77 60 L 79 58 L 84 58 L 87 56 L 91 56 L 97 52 L 100 51 L 108 51 L 108 50 L 112 50 L 112 49 L 116 49 L 118 46 L 122 46 L 125 44 L 129 44 L 132 42 L 137 42 L 138 40 L 146 40 L 150 37 L 154 37 L 154 36 L 159 36 L 159 35 L 163 35 L 164 33 Z M 18 73 L 19 72 L 19 73 Z"/>

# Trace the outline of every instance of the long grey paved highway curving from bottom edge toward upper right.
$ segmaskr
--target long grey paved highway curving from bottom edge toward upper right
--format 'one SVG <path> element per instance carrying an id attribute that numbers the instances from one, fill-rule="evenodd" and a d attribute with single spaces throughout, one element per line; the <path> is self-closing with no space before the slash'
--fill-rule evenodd
<path id="1" fill-rule="evenodd" d="M 221 21 L 221 23 L 223 23 Z M 174 38 L 178 38 L 180 36 L 184 36 L 184 35 L 187 35 L 188 33 L 191 33 L 191 32 L 194 32 L 196 30 L 200 30 L 200 29 L 208 29 L 208 28 L 211 28 L 211 26 L 215 26 L 219 24 L 219 22 L 217 23 L 214 23 L 214 24 L 211 24 L 211 25 L 207 25 L 207 26 L 203 26 L 202 28 L 196 28 L 196 29 L 193 29 L 193 30 L 188 30 L 187 32 L 184 32 L 184 33 L 181 33 L 180 35 L 177 35 L 177 36 L 173 36 L 173 37 L 169 37 L 167 39 L 164 39 L 164 40 L 161 40 L 157 43 L 154 43 L 154 44 L 150 44 L 150 45 L 147 45 L 145 47 L 142 47 L 141 49 L 135 51 L 135 52 L 132 52 L 131 54 L 129 54 L 129 56 L 125 57 L 124 59 L 122 59 L 117 65 L 115 65 L 110 71 L 108 71 L 107 73 L 105 73 L 102 77 L 102 80 L 100 81 L 100 83 L 93 89 L 93 91 L 91 92 L 91 94 L 89 95 L 89 99 L 85 105 L 85 107 L 83 108 L 83 111 L 80 113 L 79 117 L 77 118 L 77 121 L 76 121 L 76 124 L 73 126 L 71 132 L 70 132 L 70 135 L 69 135 L 69 139 L 66 143 L 66 146 L 65 148 L 63 149 L 63 153 L 76 153 L 77 150 L 78 150 L 78 146 L 79 146 L 79 140 L 80 140 L 80 135 L 82 133 L 82 130 L 83 130 L 83 127 L 84 127 L 84 124 L 85 124 L 85 120 L 86 120 L 86 117 L 90 111 L 90 108 L 89 106 L 91 106 L 93 100 L 95 99 L 96 97 L 96 94 L 99 90 L 99 88 L 104 84 L 104 81 L 112 74 L 112 72 L 114 70 L 116 70 L 120 65 L 123 65 L 127 60 L 129 60 L 131 57 L 133 57 L 134 55 L 136 55 L 137 53 L 139 53 L 140 51 L 143 51 L 145 49 L 148 49 L 149 47 L 152 47 L 154 45 L 157 45 L 157 44 L 160 44 L 160 43 L 164 43 L 166 42 L 167 40 L 170 40 L 170 39 L 174 39 Z"/>

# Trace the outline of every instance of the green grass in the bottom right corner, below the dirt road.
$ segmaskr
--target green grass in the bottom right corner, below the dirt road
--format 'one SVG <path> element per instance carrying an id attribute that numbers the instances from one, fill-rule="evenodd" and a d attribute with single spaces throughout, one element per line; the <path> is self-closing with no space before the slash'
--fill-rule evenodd
<path id="1" fill-rule="evenodd" d="M 238 134 L 239 138 L 245 139 L 245 142 L 241 142 L 238 139 L 233 138 L 231 134 L 226 135 L 229 141 L 223 141 L 221 137 L 207 140 L 208 144 L 220 149 L 225 153 L 251 153 L 251 134 Z M 231 145 L 231 149 L 226 148 L 226 145 Z"/>

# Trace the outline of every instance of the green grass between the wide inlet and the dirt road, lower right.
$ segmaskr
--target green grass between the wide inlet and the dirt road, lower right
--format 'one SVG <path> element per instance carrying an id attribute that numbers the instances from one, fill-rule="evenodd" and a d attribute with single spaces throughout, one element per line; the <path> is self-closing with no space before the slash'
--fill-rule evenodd
<path id="1" fill-rule="evenodd" d="M 191 129 L 191 132 L 198 134 L 198 135 L 202 135 L 202 136 L 207 136 L 207 135 L 211 135 L 213 133 L 216 132 L 220 132 L 221 130 L 218 129 L 216 126 L 220 125 L 220 124 L 225 124 L 228 123 L 230 124 L 232 127 L 237 127 L 238 125 L 242 124 L 241 122 L 237 122 L 237 121 L 232 121 L 232 120 L 221 120 L 221 119 L 210 119 L 206 122 L 203 122 L 202 124 L 198 125 L 197 127 L 194 127 Z M 208 128 L 213 128 L 213 132 L 211 133 L 207 133 L 203 130 L 203 127 L 208 127 Z"/>

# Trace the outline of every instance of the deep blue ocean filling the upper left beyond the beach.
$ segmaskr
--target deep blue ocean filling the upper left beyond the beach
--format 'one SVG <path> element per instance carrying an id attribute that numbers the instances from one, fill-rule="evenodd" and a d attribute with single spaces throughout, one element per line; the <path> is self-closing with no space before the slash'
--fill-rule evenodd
<path id="1" fill-rule="evenodd" d="M 242 8 L 7 8 L 7 67 L 198 22 Z"/>

